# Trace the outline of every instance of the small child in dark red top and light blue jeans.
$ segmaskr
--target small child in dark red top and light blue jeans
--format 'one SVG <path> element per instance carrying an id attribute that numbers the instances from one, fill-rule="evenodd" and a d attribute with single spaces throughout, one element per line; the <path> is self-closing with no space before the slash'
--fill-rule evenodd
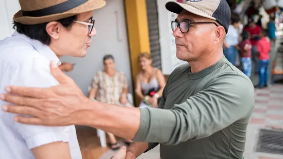
<path id="1" fill-rule="evenodd" d="M 252 43 L 250 38 L 250 33 L 244 30 L 242 32 L 242 42 L 239 43 L 243 72 L 249 78 L 251 77 L 252 72 Z"/>

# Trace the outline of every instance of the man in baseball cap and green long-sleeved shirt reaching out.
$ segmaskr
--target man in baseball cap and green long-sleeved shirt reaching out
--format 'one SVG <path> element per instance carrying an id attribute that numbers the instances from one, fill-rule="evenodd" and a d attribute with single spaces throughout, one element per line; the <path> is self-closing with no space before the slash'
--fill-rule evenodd
<path id="1" fill-rule="evenodd" d="M 251 80 L 223 54 L 231 15 L 226 0 L 170 1 L 166 8 L 178 14 L 171 22 L 176 56 L 188 64 L 171 73 L 159 108 L 90 101 L 72 79 L 51 67 L 59 85 L 7 87 L 11 94 L 0 97 L 18 106 L 2 109 L 34 116 L 18 116 L 20 123 L 88 125 L 139 141 L 128 148 L 126 159 L 159 144 L 161 159 L 242 159 L 255 96 Z"/>

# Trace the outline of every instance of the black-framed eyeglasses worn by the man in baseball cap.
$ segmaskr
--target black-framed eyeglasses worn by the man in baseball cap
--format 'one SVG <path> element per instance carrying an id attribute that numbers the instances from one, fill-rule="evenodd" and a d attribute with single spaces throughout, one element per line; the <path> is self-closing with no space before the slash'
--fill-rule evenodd
<path id="1" fill-rule="evenodd" d="M 215 24 L 217 27 L 219 27 L 215 22 L 175 22 L 175 21 L 171 22 L 171 27 L 173 31 L 175 31 L 179 27 L 182 33 L 186 33 L 189 31 L 189 28 L 192 26 L 192 24 Z"/>

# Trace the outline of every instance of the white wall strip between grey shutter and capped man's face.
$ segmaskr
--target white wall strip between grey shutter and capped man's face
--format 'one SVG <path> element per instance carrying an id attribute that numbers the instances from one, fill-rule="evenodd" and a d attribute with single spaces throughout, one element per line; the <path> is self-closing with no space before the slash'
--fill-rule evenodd
<path id="1" fill-rule="evenodd" d="M 165 8 L 165 4 L 168 1 L 170 0 L 157 0 L 161 63 L 162 72 L 165 75 L 169 75 L 177 66 L 186 63 L 176 57 L 176 45 L 175 38 L 173 37 L 173 31 L 171 29 L 171 21 L 176 19 L 177 14 L 171 13 Z"/>

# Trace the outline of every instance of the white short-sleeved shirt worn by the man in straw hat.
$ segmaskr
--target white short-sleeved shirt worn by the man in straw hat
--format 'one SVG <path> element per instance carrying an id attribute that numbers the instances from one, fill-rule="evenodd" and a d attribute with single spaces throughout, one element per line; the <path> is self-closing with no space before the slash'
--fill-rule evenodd
<path id="1" fill-rule="evenodd" d="M 37 40 L 15 32 L 0 41 L 0 93 L 8 85 L 50 87 L 57 80 L 50 61 L 58 57 Z M 0 101 L 0 106 L 7 104 Z M 0 159 L 34 159 L 31 149 L 52 142 L 68 142 L 72 159 L 82 159 L 75 126 L 46 127 L 13 121 L 15 114 L 0 110 Z M 54 152 L 56 153 L 56 152 Z"/>

